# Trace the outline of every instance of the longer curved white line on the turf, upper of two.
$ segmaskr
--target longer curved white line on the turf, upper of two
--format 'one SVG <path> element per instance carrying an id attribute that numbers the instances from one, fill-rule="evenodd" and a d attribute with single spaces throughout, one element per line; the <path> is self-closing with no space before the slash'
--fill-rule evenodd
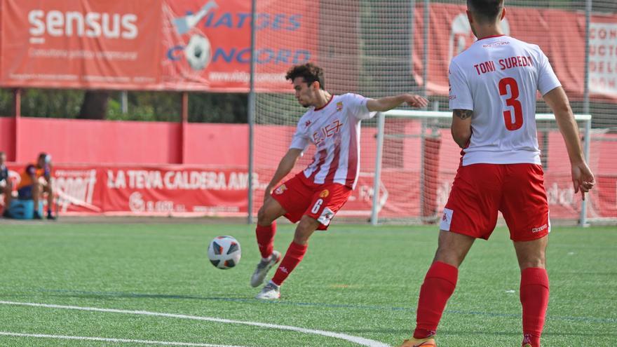
<path id="1" fill-rule="evenodd" d="M 175 313 L 159 313 L 159 312 L 150 312 L 150 311 L 130 311 L 130 310 L 118 310 L 115 308 L 97 308 L 97 307 L 83 307 L 83 306 L 64 306 L 64 305 L 53 305 L 53 304 L 36 304 L 31 302 L 17 302 L 17 301 L 0 301 L 0 305 L 17 305 L 17 306 L 33 306 L 33 307 L 45 307 L 45 308 L 62 308 L 65 310 L 79 310 L 79 311 L 93 311 L 93 312 L 107 312 L 107 313 L 123 313 L 128 315 L 151 315 L 158 317 L 168 317 L 168 318 L 179 318 L 179 319 L 188 319 L 188 320 L 203 320 L 208 322 L 217 322 L 224 324 L 242 324 L 242 325 L 252 325 L 254 327 L 264 327 L 268 329 L 280 329 L 280 330 L 290 330 L 293 332 L 301 332 L 303 334 L 316 334 L 327 337 L 333 337 L 335 339 L 341 339 L 350 341 L 353 343 L 357 343 L 360 346 L 367 347 L 390 347 L 386 343 L 365 339 L 360 336 L 352 336 L 348 334 L 341 334 L 338 332 L 327 332 L 325 330 L 318 329 L 305 329 L 301 327 L 292 327 L 290 325 L 276 325 L 269 323 L 261 323 L 261 322 L 250 322 L 243 320 L 229 320 L 222 318 L 212 318 L 212 317 L 201 317 L 198 315 L 179 315 Z"/>

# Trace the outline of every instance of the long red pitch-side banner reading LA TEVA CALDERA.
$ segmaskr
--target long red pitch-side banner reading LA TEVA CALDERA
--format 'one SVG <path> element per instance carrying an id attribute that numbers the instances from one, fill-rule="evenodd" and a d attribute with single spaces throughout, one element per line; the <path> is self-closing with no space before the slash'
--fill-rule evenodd
<path id="1" fill-rule="evenodd" d="M 25 166 L 8 165 L 14 188 Z M 246 169 L 59 164 L 52 177 L 60 215 L 242 216 L 248 208 Z M 259 175 L 254 183 L 265 188 Z"/>

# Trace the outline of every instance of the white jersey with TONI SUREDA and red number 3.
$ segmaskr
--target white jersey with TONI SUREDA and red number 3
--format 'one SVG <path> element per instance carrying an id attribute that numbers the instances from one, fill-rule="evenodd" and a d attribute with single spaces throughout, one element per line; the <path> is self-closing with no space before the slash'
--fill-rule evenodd
<path id="1" fill-rule="evenodd" d="M 449 108 L 473 111 L 463 165 L 540 163 L 536 90 L 561 86 L 542 50 L 510 36 L 475 41 L 452 59 Z"/>

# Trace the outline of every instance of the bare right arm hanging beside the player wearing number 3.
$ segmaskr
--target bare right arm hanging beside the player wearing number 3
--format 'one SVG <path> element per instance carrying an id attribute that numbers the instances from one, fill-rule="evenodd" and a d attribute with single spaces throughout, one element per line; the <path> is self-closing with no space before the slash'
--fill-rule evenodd
<path id="1" fill-rule="evenodd" d="M 593 188 L 595 179 L 583 156 L 583 147 L 581 146 L 580 137 L 578 137 L 578 125 L 576 125 L 574 114 L 572 114 L 568 97 L 562 87 L 557 87 L 546 93 L 543 98 L 555 114 L 557 126 L 566 142 L 572 166 L 574 192 L 578 193 L 580 189 L 583 200 L 585 200 L 585 192 Z"/>

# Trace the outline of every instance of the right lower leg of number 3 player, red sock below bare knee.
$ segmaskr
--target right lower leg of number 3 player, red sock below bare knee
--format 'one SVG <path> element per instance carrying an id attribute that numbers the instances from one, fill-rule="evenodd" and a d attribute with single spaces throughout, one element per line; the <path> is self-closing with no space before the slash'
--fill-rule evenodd
<path id="1" fill-rule="evenodd" d="M 549 285 L 546 273 L 548 236 L 538 240 L 515 242 L 521 269 L 520 301 L 523 308 L 523 346 L 539 347 L 548 306 Z"/>

